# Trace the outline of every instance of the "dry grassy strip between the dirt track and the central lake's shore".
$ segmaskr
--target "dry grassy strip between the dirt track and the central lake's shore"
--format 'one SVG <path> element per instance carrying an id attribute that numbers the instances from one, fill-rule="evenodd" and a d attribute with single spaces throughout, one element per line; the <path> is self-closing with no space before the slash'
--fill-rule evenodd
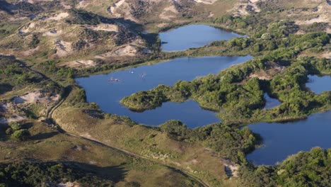
<path id="1" fill-rule="evenodd" d="M 223 160 L 198 142 L 179 142 L 154 128 L 93 118 L 66 103 L 53 117 L 68 132 L 179 167 L 207 183 L 216 185 L 226 179 Z"/>

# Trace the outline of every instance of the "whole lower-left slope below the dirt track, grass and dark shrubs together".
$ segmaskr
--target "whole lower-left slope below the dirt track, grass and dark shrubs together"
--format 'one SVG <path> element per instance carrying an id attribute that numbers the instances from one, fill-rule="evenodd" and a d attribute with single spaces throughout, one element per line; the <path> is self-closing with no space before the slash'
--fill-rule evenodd
<path id="1" fill-rule="evenodd" d="M 79 186 L 199 186 L 174 169 L 60 133 L 49 128 L 50 123 L 29 120 L 23 125 L 11 124 L 13 128 L 28 128 L 30 138 L 25 141 L 6 139 L 1 125 L 0 186 L 69 182 Z"/>

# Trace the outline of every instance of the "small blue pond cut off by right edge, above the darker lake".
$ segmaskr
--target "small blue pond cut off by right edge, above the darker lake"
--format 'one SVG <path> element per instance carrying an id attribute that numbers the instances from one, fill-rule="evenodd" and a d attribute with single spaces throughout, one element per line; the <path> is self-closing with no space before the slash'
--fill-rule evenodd
<path id="1" fill-rule="evenodd" d="M 331 91 L 331 76 L 318 77 L 317 75 L 308 75 L 306 86 L 315 94 Z"/>

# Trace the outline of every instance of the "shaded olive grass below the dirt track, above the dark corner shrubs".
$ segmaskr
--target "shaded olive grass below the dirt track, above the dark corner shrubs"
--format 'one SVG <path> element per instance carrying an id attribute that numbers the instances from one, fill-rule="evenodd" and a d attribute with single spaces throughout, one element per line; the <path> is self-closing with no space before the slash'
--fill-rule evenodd
<path id="1" fill-rule="evenodd" d="M 0 142 L 0 162 L 37 159 L 42 162 L 62 161 L 88 164 L 89 170 L 119 179 L 115 186 L 136 181 L 141 186 L 197 186 L 186 176 L 144 159 L 137 159 L 115 149 L 97 145 L 78 137 L 61 134 L 37 121 L 29 129 L 32 137 L 25 142 Z M 1 135 L 3 136 L 3 135 Z M 84 166 L 86 167 L 86 165 Z M 149 180 L 146 180 L 146 179 Z"/>

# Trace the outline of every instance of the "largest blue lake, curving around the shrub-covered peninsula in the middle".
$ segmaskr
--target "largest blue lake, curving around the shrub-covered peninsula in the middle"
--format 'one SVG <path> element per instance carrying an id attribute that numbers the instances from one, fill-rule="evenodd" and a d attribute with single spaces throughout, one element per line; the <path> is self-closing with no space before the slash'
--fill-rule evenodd
<path id="1" fill-rule="evenodd" d="M 190 81 L 207 74 L 216 74 L 222 69 L 251 58 L 251 56 L 184 57 L 110 74 L 83 77 L 76 81 L 86 90 L 88 102 L 98 103 L 98 106 L 107 113 L 126 115 L 132 120 L 146 125 L 160 125 L 167 120 L 181 120 L 190 128 L 195 128 L 220 120 L 214 112 L 202 110 L 195 101 L 163 103 L 162 107 L 155 110 L 136 113 L 122 106 L 120 100 L 137 91 L 153 89 L 158 84 L 172 86 L 178 80 Z M 119 79 L 119 81 L 109 81 L 111 78 Z"/>

